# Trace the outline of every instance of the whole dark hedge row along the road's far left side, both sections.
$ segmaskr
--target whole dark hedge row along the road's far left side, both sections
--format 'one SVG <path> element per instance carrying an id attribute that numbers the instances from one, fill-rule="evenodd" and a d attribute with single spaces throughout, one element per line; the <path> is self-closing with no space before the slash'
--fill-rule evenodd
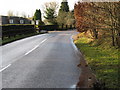
<path id="1" fill-rule="evenodd" d="M 53 31 L 53 30 L 69 30 L 74 29 L 72 25 L 65 25 L 63 27 L 59 25 L 41 25 L 37 28 L 35 25 L 31 24 L 7 24 L 0 26 L 2 28 L 2 39 L 4 37 L 15 37 L 16 35 L 23 35 L 23 34 L 30 34 L 36 32 L 36 29 L 39 30 L 47 30 L 47 31 Z"/>

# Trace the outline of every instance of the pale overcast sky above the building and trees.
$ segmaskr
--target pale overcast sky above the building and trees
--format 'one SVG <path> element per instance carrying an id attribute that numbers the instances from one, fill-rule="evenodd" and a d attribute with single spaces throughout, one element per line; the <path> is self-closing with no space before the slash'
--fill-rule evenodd
<path id="1" fill-rule="evenodd" d="M 42 5 L 44 5 L 45 2 L 51 1 L 56 1 L 60 5 L 62 0 L 1 0 L 0 15 L 7 15 L 8 11 L 11 10 L 15 15 L 25 13 L 26 15 L 32 16 L 36 9 L 42 10 Z M 71 10 L 77 1 L 78 0 L 68 0 Z"/>

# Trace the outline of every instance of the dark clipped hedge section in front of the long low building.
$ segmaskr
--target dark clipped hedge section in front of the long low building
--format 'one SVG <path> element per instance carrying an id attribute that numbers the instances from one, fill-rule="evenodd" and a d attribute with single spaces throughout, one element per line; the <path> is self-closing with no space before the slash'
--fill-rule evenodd
<path id="1" fill-rule="evenodd" d="M 2 25 L 2 38 L 35 32 L 34 25 Z"/>

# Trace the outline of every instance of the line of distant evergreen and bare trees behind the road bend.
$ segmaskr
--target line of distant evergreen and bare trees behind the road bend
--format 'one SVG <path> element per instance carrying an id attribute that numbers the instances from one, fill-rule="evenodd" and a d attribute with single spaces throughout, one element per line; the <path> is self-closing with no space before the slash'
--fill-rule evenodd
<path id="1" fill-rule="evenodd" d="M 74 10 L 69 10 L 68 2 L 61 2 L 61 6 L 58 10 L 58 3 L 49 2 L 44 4 L 44 18 L 47 25 L 60 25 L 66 27 L 66 25 L 75 25 Z M 58 12 L 57 12 L 58 10 Z M 34 20 L 41 20 L 40 9 L 36 10 L 34 14 Z M 41 25 L 41 23 L 40 23 Z"/>

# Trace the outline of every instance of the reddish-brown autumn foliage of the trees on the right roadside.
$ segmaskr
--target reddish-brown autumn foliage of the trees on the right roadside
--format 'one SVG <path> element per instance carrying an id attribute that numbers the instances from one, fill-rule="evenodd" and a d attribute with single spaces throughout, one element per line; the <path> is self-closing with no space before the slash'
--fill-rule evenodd
<path id="1" fill-rule="evenodd" d="M 78 2 L 74 16 L 79 32 L 90 31 L 94 39 L 109 37 L 120 47 L 120 2 Z"/>

